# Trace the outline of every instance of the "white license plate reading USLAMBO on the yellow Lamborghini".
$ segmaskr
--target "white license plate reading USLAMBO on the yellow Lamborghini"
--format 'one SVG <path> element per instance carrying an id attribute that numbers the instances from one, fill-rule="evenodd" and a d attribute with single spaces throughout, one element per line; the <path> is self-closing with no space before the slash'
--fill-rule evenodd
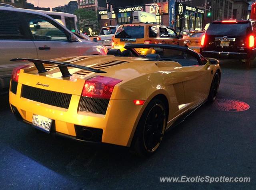
<path id="1" fill-rule="evenodd" d="M 41 131 L 50 133 L 52 119 L 33 114 L 32 125 Z"/>

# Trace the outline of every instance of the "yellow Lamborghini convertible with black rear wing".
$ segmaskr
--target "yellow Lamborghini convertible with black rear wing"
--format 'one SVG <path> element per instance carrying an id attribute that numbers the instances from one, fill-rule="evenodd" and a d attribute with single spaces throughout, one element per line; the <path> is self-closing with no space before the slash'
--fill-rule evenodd
<path id="1" fill-rule="evenodd" d="M 152 48 L 139 55 L 136 48 Z M 29 61 L 15 68 L 10 107 L 46 133 L 154 153 L 165 131 L 206 101 L 220 83 L 216 59 L 177 45 L 126 45 L 122 53 Z"/>

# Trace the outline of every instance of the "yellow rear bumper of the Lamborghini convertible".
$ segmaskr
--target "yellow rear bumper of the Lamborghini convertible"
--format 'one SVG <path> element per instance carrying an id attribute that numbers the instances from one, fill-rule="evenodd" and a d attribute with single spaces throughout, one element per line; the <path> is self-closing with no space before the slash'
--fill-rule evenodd
<path id="1" fill-rule="evenodd" d="M 80 141 L 130 146 L 142 109 L 132 100 L 110 100 L 105 115 L 92 114 L 78 110 L 80 96 L 72 95 L 68 109 L 64 109 L 22 98 L 21 86 L 18 83 L 17 94 L 9 93 L 12 112 L 19 121 L 32 123 L 33 114 L 37 114 L 53 120 L 50 133 Z M 93 138 L 84 135 L 83 129 L 89 129 Z"/>

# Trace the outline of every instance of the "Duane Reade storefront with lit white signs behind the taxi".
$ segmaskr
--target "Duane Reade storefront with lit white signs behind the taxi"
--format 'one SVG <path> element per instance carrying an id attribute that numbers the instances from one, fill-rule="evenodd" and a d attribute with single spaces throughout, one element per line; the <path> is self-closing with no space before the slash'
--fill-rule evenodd
<path id="1" fill-rule="evenodd" d="M 171 25 L 177 32 L 187 30 L 194 30 L 196 28 L 202 29 L 204 20 L 204 10 L 189 6 L 183 3 L 174 2 L 174 12 L 170 5 L 171 2 L 149 3 L 144 5 L 133 5 L 120 8 L 113 8 L 111 25 L 132 23 L 132 13 L 134 11 L 145 11 L 156 14 L 159 24 Z M 108 19 L 108 11 L 99 10 L 97 12 L 100 26 L 108 26 L 110 24 Z M 173 19 L 169 19 L 173 18 Z"/>

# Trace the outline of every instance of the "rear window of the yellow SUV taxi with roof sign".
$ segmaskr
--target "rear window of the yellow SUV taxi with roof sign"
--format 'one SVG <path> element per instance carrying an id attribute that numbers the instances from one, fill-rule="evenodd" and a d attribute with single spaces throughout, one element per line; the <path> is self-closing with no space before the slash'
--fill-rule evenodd
<path id="1" fill-rule="evenodd" d="M 118 28 L 116 38 L 144 38 L 144 26 L 124 26 Z"/>

